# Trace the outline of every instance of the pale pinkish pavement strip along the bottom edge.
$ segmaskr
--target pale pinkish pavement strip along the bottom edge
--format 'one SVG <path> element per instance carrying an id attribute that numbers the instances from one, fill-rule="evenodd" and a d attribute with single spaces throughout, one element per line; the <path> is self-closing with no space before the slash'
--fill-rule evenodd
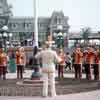
<path id="1" fill-rule="evenodd" d="M 78 94 L 68 94 L 56 97 L 8 97 L 1 96 L 0 100 L 100 100 L 100 90 L 78 93 Z"/>

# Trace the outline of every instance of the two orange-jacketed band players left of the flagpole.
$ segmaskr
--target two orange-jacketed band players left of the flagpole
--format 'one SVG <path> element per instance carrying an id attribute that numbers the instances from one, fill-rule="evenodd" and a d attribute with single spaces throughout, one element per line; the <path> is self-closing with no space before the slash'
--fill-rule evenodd
<path id="1" fill-rule="evenodd" d="M 26 55 L 23 47 L 18 48 L 15 54 L 12 52 L 11 55 L 7 55 L 3 48 L 0 48 L 0 78 L 4 80 L 6 79 L 6 73 L 8 72 L 8 61 L 11 60 L 10 57 L 15 58 L 17 78 L 22 79 L 24 67 L 26 65 Z"/>

